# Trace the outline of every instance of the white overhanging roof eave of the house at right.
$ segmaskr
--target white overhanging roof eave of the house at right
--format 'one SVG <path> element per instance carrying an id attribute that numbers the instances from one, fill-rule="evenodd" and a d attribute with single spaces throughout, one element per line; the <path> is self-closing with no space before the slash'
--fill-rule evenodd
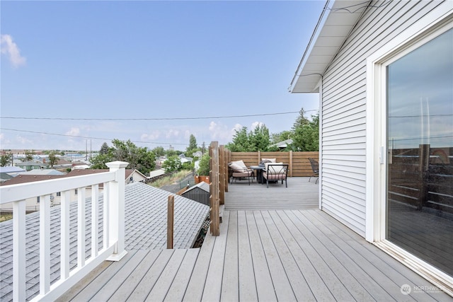
<path id="1" fill-rule="evenodd" d="M 331 64 L 371 1 L 327 1 L 319 23 L 289 86 L 290 93 L 316 93 Z M 331 5 L 329 5 L 331 4 Z"/>

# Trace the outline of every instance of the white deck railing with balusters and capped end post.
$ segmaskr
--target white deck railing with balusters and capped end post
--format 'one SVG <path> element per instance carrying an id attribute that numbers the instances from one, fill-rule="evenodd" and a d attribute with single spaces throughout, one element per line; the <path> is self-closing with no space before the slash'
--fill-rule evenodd
<path id="1" fill-rule="evenodd" d="M 13 202 L 13 301 L 25 301 L 25 199 L 40 197 L 40 294 L 33 301 L 51 301 L 104 260 L 120 260 L 125 251 L 125 168 L 107 163 L 109 172 L 0 187 L 0 204 Z M 103 190 L 103 246 L 98 247 L 98 184 Z M 91 187 L 91 256 L 86 258 L 85 188 Z M 77 265 L 69 265 L 69 192 L 78 190 Z M 61 192 L 60 279 L 50 284 L 50 195 Z"/>

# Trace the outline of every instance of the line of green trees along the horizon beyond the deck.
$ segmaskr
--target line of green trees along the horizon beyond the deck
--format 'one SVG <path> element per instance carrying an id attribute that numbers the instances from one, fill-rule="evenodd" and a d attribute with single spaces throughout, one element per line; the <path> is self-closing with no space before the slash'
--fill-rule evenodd
<path id="1" fill-rule="evenodd" d="M 236 130 L 233 139 L 230 143 L 226 144 L 226 149 L 233 152 L 254 152 L 254 151 L 279 151 L 280 149 L 273 145 L 280 141 L 292 139 L 292 143 L 287 144 L 284 151 L 319 151 L 319 115 L 311 115 L 311 120 L 305 117 L 304 108 L 300 110 L 299 116 L 294 121 L 292 129 L 269 134 L 269 129 L 265 124 L 260 124 L 255 129 L 248 132 L 247 127 L 242 127 Z M 162 168 L 166 172 L 176 170 L 192 170 L 194 168 L 193 162 L 181 163 L 179 155 L 183 154 L 185 157 L 194 157 L 194 154 L 200 151 L 204 154 L 200 159 L 200 175 L 207 175 L 209 173 L 209 155 L 205 148 L 205 144 L 198 146 L 197 139 L 193 134 L 190 134 L 189 146 L 185 151 L 164 150 L 164 147 L 158 146 L 154 149 L 147 147 L 136 146 L 132 141 L 121 141 L 120 139 L 113 139 L 112 146 L 103 143 L 99 153 L 91 158 L 91 168 L 93 169 L 107 169 L 110 161 L 125 161 L 129 163 L 128 169 L 137 169 L 143 174 L 148 174 L 156 168 L 156 158 L 158 156 L 166 156 L 166 161 L 162 164 Z M 50 165 L 53 167 L 57 163 L 57 151 L 49 151 Z M 25 152 L 25 160 L 31 161 L 33 159 L 33 151 Z M 11 153 L 1 156 L 1 166 L 11 163 Z"/>

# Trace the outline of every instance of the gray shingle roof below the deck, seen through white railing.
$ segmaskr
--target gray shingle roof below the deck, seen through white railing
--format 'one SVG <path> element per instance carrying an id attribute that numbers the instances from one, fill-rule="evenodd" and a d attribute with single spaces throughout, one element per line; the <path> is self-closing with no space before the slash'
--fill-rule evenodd
<path id="1" fill-rule="evenodd" d="M 133 182 L 125 187 L 125 247 L 126 250 L 166 248 L 166 211 L 170 192 Z M 102 194 L 100 197 L 102 208 Z M 76 202 L 70 207 L 70 263 L 77 262 Z M 99 211 L 99 245 L 102 246 L 103 219 Z M 209 207 L 175 195 L 174 248 L 190 248 L 197 238 Z M 86 257 L 91 253 L 91 198 L 86 199 Z M 51 210 L 50 262 L 51 283 L 59 279 L 59 207 Z M 39 293 L 39 212 L 26 216 L 26 282 L 27 299 Z M 13 223 L 0 223 L 0 301 L 12 300 L 13 289 Z"/>

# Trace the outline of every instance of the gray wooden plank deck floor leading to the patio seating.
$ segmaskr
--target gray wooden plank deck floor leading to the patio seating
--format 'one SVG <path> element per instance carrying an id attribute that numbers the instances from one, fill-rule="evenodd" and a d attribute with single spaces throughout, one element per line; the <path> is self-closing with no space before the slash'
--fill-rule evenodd
<path id="1" fill-rule="evenodd" d="M 289 180 L 287 189 L 297 183 Z M 59 301 L 452 301 L 316 209 L 317 197 L 311 209 L 258 210 L 255 187 L 230 185 L 221 235 L 208 235 L 202 248 L 129 250 Z M 259 190 L 281 197 L 277 187 Z M 278 207 L 287 200 L 280 197 Z M 248 201 L 252 209 L 234 209 Z"/>

